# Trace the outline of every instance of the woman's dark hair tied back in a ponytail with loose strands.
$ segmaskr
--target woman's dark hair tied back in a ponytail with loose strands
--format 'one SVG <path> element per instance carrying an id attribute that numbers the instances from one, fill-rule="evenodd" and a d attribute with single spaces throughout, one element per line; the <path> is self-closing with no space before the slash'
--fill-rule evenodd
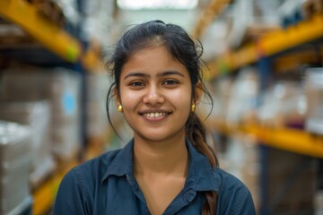
<path id="1" fill-rule="evenodd" d="M 192 85 L 192 99 L 196 99 L 196 83 L 201 87 L 201 90 L 205 91 L 205 94 L 211 99 L 213 106 L 213 100 L 210 93 L 206 90 L 204 83 L 202 82 L 202 60 L 201 55 L 203 47 L 200 42 L 194 41 L 188 36 L 186 30 L 182 29 L 175 24 L 165 24 L 162 21 L 144 22 L 143 24 L 136 25 L 118 40 L 113 55 L 108 60 L 109 70 L 114 76 L 114 83 L 109 88 L 107 99 L 107 113 L 109 123 L 114 129 L 111 118 L 109 116 L 109 100 L 112 98 L 112 89 L 117 87 L 119 93 L 119 81 L 120 73 L 124 64 L 130 56 L 135 52 L 145 47 L 158 47 L 164 46 L 170 52 L 171 56 L 175 57 L 181 64 L 185 65 L 191 85 Z M 200 121 L 195 112 L 192 112 L 188 117 L 186 123 L 186 136 L 189 141 L 199 150 L 205 154 L 209 159 L 213 168 L 218 165 L 216 156 L 211 147 L 206 143 L 205 126 Z M 205 205 L 202 214 L 215 214 L 217 193 L 205 192 Z"/>

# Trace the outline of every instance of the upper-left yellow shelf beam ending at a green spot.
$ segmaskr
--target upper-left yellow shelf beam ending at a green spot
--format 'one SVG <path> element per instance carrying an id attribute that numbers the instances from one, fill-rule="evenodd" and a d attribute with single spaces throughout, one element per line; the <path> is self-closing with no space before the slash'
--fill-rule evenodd
<path id="1" fill-rule="evenodd" d="M 21 26 L 31 37 L 67 62 L 79 60 L 82 48 L 78 40 L 59 29 L 26 0 L 0 0 L 0 15 Z"/>

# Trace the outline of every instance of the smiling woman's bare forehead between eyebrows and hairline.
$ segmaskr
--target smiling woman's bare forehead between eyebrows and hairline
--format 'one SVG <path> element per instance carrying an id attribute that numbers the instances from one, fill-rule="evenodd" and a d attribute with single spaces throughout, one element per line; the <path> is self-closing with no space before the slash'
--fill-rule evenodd
<path id="1" fill-rule="evenodd" d="M 186 66 L 172 56 L 166 47 L 145 47 L 128 58 L 121 70 L 121 76 L 130 72 L 160 73 L 167 70 L 176 70 L 188 76 Z"/>

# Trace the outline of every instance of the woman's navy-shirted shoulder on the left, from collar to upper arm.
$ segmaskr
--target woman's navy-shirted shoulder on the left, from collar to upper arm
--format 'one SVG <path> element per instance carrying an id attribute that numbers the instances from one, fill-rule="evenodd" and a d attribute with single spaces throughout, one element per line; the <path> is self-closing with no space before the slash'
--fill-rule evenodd
<path id="1" fill-rule="evenodd" d="M 54 214 L 92 214 L 94 198 L 102 178 L 119 150 L 106 152 L 72 168 L 61 181 L 54 205 Z"/>

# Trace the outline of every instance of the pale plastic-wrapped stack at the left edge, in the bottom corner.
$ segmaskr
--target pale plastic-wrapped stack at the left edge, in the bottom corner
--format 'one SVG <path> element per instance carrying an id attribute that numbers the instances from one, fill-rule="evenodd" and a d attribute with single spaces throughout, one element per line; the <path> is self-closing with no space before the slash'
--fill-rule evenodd
<path id="1" fill-rule="evenodd" d="M 22 214 L 31 206 L 31 128 L 0 121 L 0 214 Z"/>

